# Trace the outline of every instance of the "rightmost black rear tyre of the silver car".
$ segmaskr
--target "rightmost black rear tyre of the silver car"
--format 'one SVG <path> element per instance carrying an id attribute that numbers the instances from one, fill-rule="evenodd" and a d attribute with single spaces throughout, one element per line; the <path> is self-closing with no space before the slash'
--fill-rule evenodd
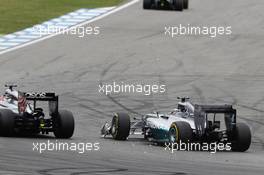
<path id="1" fill-rule="evenodd" d="M 233 133 L 232 151 L 244 152 L 251 144 L 251 132 L 245 123 L 237 123 Z"/>

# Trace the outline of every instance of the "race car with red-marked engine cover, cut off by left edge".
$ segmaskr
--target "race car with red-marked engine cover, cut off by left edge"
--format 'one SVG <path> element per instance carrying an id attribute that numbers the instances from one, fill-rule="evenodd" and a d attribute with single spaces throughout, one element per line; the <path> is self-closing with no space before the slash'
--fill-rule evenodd
<path id="1" fill-rule="evenodd" d="M 0 96 L 0 136 L 35 135 L 53 132 L 57 138 L 70 138 L 74 132 L 74 118 L 70 111 L 59 110 L 55 93 L 29 93 L 6 85 Z M 29 101 L 32 102 L 29 103 Z M 49 114 L 37 107 L 37 102 L 48 102 Z"/>

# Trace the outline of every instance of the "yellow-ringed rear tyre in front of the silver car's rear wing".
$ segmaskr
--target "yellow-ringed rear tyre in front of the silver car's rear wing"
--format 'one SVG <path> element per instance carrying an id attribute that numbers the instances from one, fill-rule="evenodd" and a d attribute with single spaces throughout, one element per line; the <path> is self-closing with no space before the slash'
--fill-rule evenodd
<path id="1" fill-rule="evenodd" d="M 169 142 L 173 143 L 187 143 L 192 140 L 193 131 L 189 123 L 178 121 L 170 126 Z"/>

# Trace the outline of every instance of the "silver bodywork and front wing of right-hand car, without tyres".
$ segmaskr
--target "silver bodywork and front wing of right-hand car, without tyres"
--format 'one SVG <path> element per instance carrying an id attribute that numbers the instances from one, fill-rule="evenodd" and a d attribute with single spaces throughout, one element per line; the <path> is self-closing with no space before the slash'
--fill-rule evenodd
<path id="1" fill-rule="evenodd" d="M 130 135 L 144 135 L 150 141 L 166 141 L 172 123 L 184 121 L 195 132 L 194 105 L 189 101 L 178 103 L 178 108 L 169 113 L 153 112 L 131 122 Z M 102 137 L 111 135 L 112 124 L 106 122 L 101 129 Z"/>

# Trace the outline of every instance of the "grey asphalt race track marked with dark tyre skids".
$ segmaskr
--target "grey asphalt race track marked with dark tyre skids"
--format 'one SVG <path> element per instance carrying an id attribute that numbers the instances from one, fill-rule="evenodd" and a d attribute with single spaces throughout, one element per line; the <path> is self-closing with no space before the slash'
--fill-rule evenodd
<path id="1" fill-rule="evenodd" d="M 76 117 L 66 142 L 100 142 L 100 151 L 32 151 L 48 138 L 0 138 L 0 174 L 263 174 L 264 172 L 264 3 L 257 0 L 191 0 L 184 12 L 142 10 L 137 3 L 92 25 L 99 36 L 60 35 L 0 56 L 1 86 L 55 91 L 60 107 Z M 178 24 L 231 25 L 233 34 L 164 35 Z M 112 81 L 161 83 L 165 94 L 98 93 Z M 117 111 L 170 110 L 176 97 L 197 103 L 231 103 L 250 125 L 253 142 L 245 153 L 176 152 L 139 138 L 101 139 L 101 125 Z"/>

